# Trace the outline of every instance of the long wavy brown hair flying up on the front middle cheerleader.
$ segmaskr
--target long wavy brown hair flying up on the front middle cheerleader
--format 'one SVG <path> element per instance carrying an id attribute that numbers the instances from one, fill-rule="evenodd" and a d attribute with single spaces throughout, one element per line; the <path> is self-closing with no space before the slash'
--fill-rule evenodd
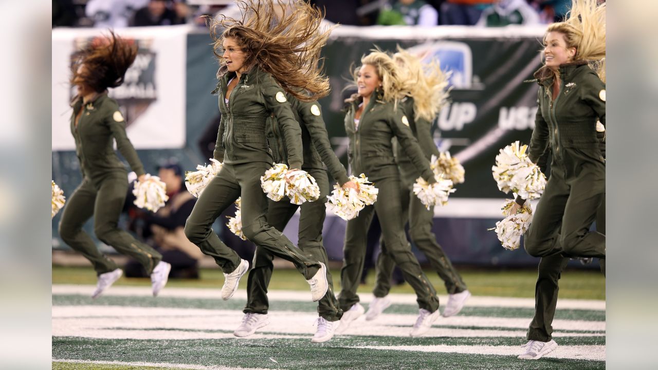
<path id="1" fill-rule="evenodd" d="M 209 20 L 213 53 L 226 65 L 222 43 L 233 38 L 245 52 L 245 66 L 259 66 L 294 97 L 313 101 L 328 95 L 329 79 L 321 72 L 320 50 L 332 28 L 321 25 L 322 12 L 301 0 L 238 1 L 241 19 Z M 226 68 L 220 68 L 220 77 Z M 303 93 L 303 91 L 307 93 Z"/>

